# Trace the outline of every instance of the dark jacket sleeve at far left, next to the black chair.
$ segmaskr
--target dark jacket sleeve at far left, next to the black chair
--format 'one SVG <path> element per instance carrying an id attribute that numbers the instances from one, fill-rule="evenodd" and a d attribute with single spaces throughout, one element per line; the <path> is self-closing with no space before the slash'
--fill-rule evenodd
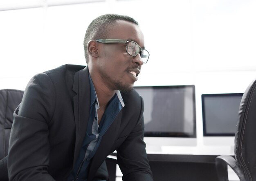
<path id="1" fill-rule="evenodd" d="M 53 181 L 48 174 L 48 123 L 55 109 L 55 89 L 47 74 L 28 83 L 22 102 L 13 113 L 9 142 L 10 181 Z"/>

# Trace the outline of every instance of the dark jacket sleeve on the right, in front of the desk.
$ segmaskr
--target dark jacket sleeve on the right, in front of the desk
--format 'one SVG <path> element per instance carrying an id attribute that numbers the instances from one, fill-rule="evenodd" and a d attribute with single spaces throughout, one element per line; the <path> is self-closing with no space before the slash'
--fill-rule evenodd
<path id="1" fill-rule="evenodd" d="M 117 161 L 123 173 L 124 181 L 153 181 L 146 154 L 144 138 L 144 103 L 141 98 L 141 109 L 137 124 L 126 140 L 117 149 Z"/>

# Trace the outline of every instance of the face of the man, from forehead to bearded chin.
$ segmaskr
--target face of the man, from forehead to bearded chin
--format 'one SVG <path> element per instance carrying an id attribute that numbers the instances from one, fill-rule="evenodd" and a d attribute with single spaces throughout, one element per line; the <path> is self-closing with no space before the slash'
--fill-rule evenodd
<path id="1" fill-rule="evenodd" d="M 108 38 L 132 40 L 144 48 L 144 35 L 139 26 L 131 22 L 117 21 Z M 127 54 L 126 45 L 126 43 L 98 43 L 100 53 L 97 69 L 103 83 L 112 90 L 130 91 L 143 65 L 140 54 L 136 57 Z"/>

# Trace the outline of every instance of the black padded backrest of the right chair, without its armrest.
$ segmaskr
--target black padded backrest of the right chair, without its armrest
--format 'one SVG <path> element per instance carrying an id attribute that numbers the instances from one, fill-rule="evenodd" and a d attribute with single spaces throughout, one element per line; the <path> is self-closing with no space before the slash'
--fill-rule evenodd
<path id="1" fill-rule="evenodd" d="M 245 90 L 238 112 L 235 158 L 246 181 L 256 180 L 256 79 Z"/>

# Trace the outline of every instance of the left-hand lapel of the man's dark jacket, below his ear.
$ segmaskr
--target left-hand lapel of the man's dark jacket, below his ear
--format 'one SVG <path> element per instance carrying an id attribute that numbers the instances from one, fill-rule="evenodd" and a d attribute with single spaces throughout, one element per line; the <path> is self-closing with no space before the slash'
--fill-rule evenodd
<path id="1" fill-rule="evenodd" d="M 74 148 L 73 166 L 78 158 L 83 139 L 85 137 L 90 113 L 90 83 L 88 67 L 76 72 L 74 75 L 74 118 L 76 127 L 76 141 Z"/>

